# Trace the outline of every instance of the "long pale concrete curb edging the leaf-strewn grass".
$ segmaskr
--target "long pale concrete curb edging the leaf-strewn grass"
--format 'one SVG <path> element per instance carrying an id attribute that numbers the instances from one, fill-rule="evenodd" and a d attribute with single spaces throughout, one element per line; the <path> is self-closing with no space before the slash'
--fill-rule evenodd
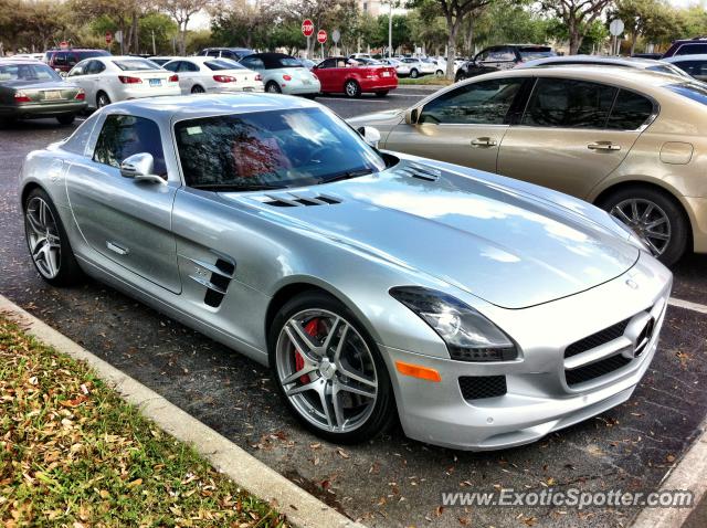
<path id="1" fill-rule="evenodd" d="M 82 348 L 33 315 L 0 295 L 0 313 L 45 345 L 86 362 L 98 377 L 126 401 L 175 439 L 192 445 L 219 472 L 268 501 L 299 528 L 366 528 L 263 464 L 225 436 L 170 403 L 103 359 Z"/>

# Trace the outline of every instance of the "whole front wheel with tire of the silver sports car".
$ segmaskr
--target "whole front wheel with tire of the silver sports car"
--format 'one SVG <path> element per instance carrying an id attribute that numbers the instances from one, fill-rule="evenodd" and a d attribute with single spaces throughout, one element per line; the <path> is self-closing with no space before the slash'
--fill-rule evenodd
<path id="1" fill-rule="evenodd" d="M 394 399 L 376 342 L 341 303 L 302 294 L 268 332 L 272 376 L 287 408 L 315 434 L 358 443 L 393 422 Z"/>

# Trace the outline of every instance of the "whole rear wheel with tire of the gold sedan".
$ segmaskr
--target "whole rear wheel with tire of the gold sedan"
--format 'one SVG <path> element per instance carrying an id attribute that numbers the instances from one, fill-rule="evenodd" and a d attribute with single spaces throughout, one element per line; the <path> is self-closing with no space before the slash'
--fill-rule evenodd
<path id="1" fill-rule="evenodd" d="M 683 209 L 666 192 L 632 186 L 611 193 L 599 205 L 631 228 L 666 266 L 685 253 L 689 224 Z"/>

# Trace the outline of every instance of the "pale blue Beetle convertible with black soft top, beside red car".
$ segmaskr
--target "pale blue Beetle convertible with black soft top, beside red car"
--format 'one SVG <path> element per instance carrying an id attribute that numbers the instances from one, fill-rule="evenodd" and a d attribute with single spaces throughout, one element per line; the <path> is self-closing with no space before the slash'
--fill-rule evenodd
<path id="1" fill-rule="evenodd" d="M 240 64 L 261 74 L 265 92 L 314 97 L 321 87 L 314 73 L 284 53 L 253 53 Z"/>

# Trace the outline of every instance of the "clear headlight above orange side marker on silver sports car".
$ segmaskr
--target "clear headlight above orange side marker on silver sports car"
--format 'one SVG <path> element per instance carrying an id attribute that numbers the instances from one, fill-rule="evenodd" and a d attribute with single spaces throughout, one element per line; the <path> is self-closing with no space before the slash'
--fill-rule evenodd
<path id="1" fill-rule="evenodd" d="M 451 295 L 420 286 L 394 287 L 390 295 L 440 335 L 452 359 L 509 361 L 518 357 L 516 345 L 500 328 Z"/>

